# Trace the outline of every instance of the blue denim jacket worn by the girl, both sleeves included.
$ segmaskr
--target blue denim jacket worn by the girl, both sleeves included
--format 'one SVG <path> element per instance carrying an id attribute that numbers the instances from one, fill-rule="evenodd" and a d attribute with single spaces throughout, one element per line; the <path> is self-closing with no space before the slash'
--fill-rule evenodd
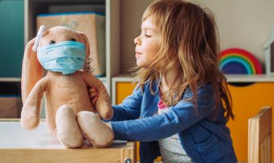
<path id="1" fill-rule="evenodd" d="M 158 84 L 155 95 L 146 85 L 142 93 L 135 89 L 120 105 L 113 105 L 114 116 L 110 120 L 116 140 L 140 141 L 140 162 L 153 162 L 160 155 L 157 140 L 179 134 L 179 140 L 192 162 L 237 162 L 224 110 L 212 120 L 214 99 L 212 86 L 205 84 L 197 92 L 197 110 L 191 101 L 181 100 L 165 114 L 153 116 L 158 110 L 160 96 Z M 187 89 L 182 99 L 192 97 Z"/>

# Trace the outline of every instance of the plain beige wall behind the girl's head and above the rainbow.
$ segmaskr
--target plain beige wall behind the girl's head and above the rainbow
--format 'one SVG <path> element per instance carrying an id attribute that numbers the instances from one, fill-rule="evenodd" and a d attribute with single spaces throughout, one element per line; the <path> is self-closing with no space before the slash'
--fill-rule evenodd
<path id="1" fill-rule="evenodd" d="M 135 65 L 134 38 L 140 18 L 152 0 L 121 0 L 121 72 Z M 263 45 L 274 28 L 274 0 L 190 0 L 214 12 L 221 50 L 245 49 L 264 64 Z M 262 68 L 264 66 L 262 65 Z"/>

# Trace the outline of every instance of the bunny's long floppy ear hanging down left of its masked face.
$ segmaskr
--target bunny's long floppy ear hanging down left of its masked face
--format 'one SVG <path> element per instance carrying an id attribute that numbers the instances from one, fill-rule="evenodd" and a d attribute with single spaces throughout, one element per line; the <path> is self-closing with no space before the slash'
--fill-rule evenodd
<path id="1" fill-rule="evenodd" d="M 24 52 L 23 65 L 22 65 L 22 76 L 21 76 L 21 91 L 23 103 L 29 92 L 34 88 L 36 82 L 42 78 L 43 68 L 38 62 L 36 52 L 32 50 L 34 46 L 35 38 L 30 40 Z"/>

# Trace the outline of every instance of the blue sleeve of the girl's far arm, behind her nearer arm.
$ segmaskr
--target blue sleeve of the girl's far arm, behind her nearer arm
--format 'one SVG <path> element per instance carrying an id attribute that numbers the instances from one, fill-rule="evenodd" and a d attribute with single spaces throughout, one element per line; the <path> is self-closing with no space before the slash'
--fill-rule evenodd
<path id="1" fill-rule="evenodd" d="M 132 95 L 125 98 L 120 105 L 112 105 L 114 115 L 110 121 L 126 121 L 139 118 L 142 104 L 141 88 L 134 88 Z"/>

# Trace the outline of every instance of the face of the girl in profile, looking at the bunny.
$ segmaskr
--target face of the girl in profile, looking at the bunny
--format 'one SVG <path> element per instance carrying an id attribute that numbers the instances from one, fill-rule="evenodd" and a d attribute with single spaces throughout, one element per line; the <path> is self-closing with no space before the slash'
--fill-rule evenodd
<path id="1" fill-rule="evenodd" d="M 140 36 L 134 39 L 136 64 L 143 68 L 149 68 L 153 58 L 160 50 L 160 29 L 153 24 L 151 16 L 149 16 L 142 22 L 141 30 Z"/>

